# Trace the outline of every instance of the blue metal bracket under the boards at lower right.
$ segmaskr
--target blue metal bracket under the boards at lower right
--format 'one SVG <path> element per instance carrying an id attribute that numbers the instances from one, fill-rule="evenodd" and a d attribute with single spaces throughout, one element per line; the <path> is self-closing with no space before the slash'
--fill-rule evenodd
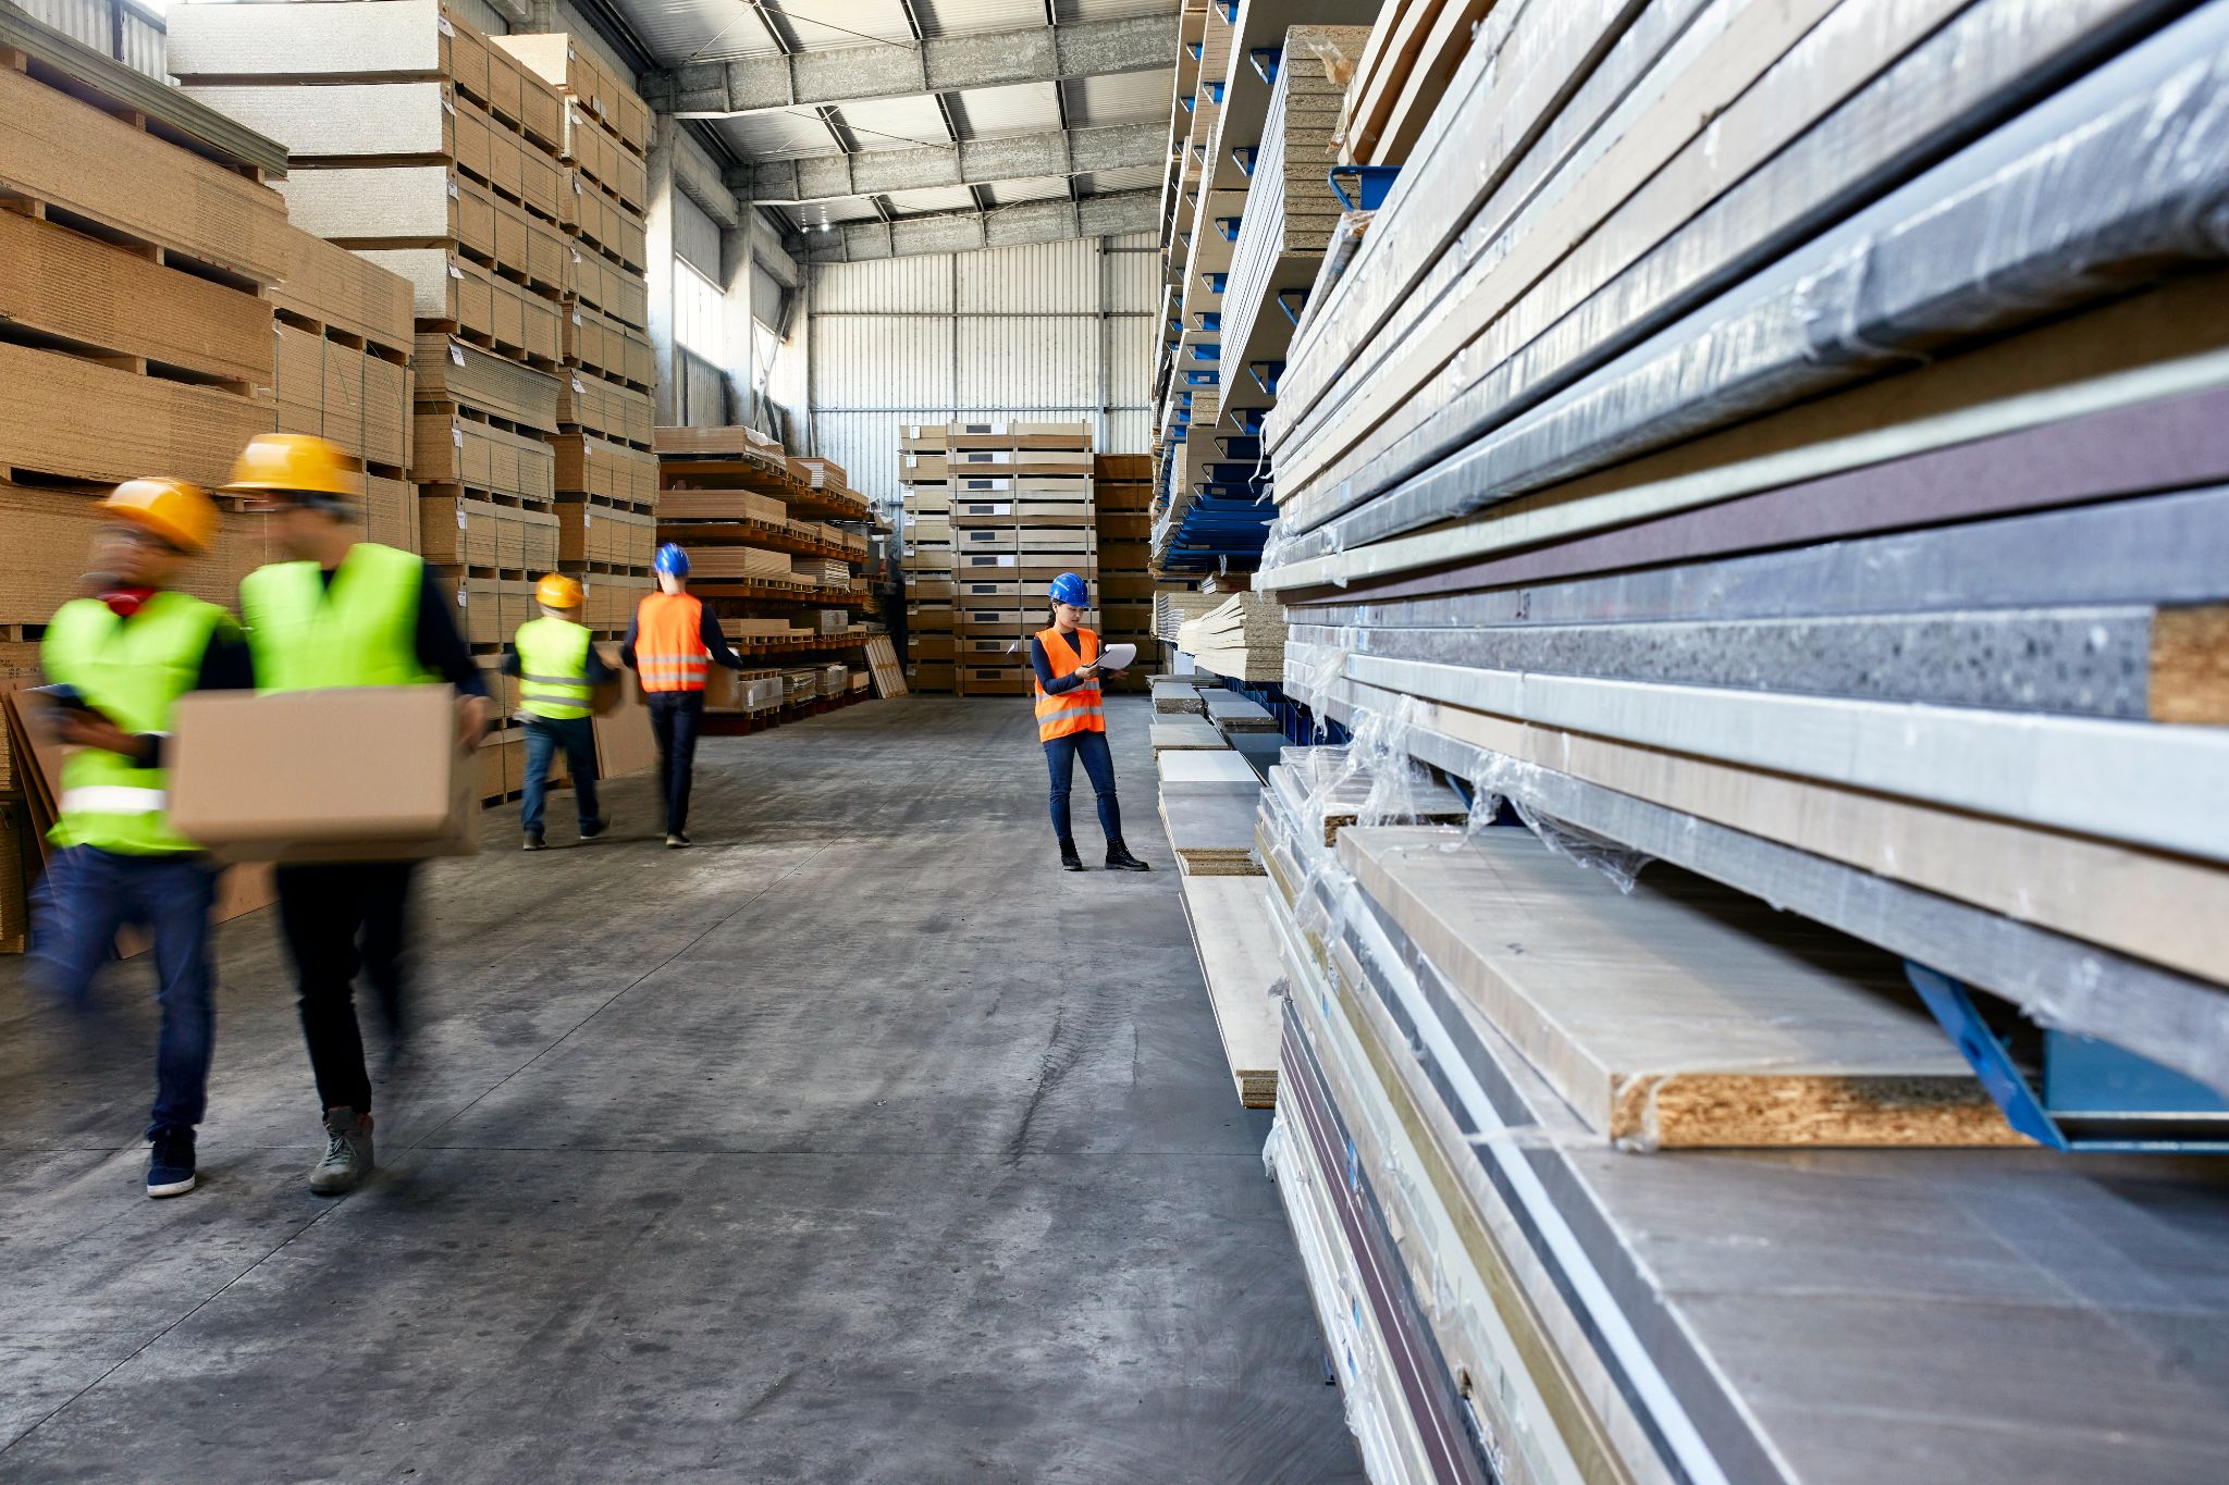
<path id="1" fill-rule="evenodd" d="M 2229 1098 L 2131 1051 L 2044 1029 L 2037 1093 L 1957 980 L 1904 962 L 1919 1000 L 1957 1044 L 2004 1120 L 2044 1149 L 2229 1153 Z"/>

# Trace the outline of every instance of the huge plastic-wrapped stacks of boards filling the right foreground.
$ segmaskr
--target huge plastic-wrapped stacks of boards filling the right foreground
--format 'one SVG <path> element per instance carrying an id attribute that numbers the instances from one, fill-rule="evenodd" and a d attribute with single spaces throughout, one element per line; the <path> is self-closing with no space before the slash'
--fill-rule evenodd
<path id="1" fill-rule="evenodd" d="M 1373 1478 L 2209 1474 L 2213 1340 L 2093 1380 L 2220 1176 L 1997 1149 L 1910 989 L 2196 1080 L 2153 1133 L 2229 1089 L 2222 78 L 2220 2 L 1502 2 L 1395 147 L 1255 574 L 1349 761 L 1471 799 L 1262 799 Z"/>

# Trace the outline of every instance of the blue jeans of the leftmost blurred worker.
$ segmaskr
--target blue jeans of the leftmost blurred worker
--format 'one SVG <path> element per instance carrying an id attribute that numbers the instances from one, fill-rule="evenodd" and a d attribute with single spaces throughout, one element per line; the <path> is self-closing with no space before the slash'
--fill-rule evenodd
<path id="1" fill-rule="evenodd" d="M 203 855 L 123 855 L 69 846 L 47 864 L 38 886 L 31 973 L 76 1006 L 116 946 L 116 931 L 140 924 L 154 933 L 156 1040 L 154 1113 L 147 1135 L 201 1122 L 216 1040 L 216 980 L 210 973 L 210 904 L 216 871 Z"/>

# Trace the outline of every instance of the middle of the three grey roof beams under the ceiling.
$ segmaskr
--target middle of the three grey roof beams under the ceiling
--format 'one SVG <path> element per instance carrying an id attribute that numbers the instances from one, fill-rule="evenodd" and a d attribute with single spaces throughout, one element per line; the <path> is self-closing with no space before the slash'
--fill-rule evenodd
<path id="1" fill-rule="evenodd" d="M 805 156 L 738 165 L 727 185 L 767 205 L 802 207 L 878 191 L 923 191 L 945 185 L 996 185 L 1043 176 L 1086 176 L 1130 165 L 1159 165 L 1164 125 L 1052 129 L 996 140 L 961 140 L 918 149 L 863 149 L 849 156 Z"/>

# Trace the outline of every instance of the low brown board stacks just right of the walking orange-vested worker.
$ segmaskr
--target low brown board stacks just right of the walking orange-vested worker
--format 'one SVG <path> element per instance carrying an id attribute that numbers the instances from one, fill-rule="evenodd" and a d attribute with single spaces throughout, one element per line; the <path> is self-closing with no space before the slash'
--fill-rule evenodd
<path id="1" fill-rule="evenodd" d="M 829 699 L 849 699 L 854 663 L 865 675 L 867 632 L 851 608 L 865 603 L 854 566 L 867 559 L 867 501 L 843 465 L 791 456 L 751 427 L 660 427 L 655 441 L 655 539 L 689 552 L 689 590 L 740 655 L 796 659 L 789 670 L 716 668 L 707 710 L 765 719 L 818 704 L 829 666 L 845 675 Z M 615 614 L 620 628 L 631 612 L 633 601 Z"/>

